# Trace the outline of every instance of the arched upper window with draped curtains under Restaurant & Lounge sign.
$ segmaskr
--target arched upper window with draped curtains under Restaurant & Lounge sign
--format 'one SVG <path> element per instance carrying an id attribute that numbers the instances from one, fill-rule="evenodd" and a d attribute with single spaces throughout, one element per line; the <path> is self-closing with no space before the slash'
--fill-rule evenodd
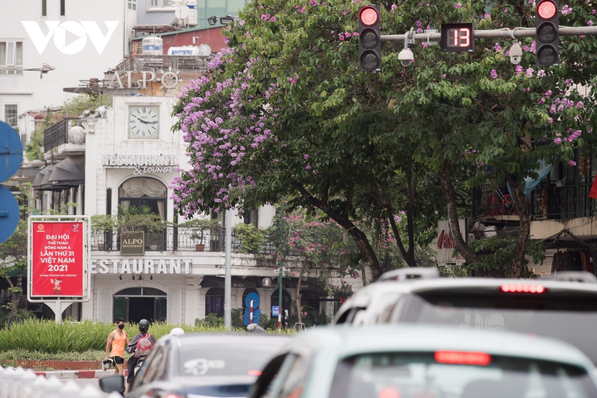
<path id="1" fill-rule="evenodd" d="M 149 177 L 135 177 L 124 181 L 118 189 L 118 205 L 126 212 L 131 206 L 143 208 L 153 214 L 159 214 L 162 220 L 167 218 L 166 200 L 168 189 L 161 181 Z"/>

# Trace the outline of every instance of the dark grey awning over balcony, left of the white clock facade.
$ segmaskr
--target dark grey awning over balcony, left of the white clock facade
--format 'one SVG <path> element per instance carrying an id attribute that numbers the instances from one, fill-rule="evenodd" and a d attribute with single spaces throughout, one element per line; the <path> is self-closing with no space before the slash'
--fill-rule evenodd
<path id="1" fill-rule="evenodd" d="M 33 188 L 61 191 L 85 184 L 85 156 L 66 158 L 55 165 L 45 166 L 33 180 Z"/>

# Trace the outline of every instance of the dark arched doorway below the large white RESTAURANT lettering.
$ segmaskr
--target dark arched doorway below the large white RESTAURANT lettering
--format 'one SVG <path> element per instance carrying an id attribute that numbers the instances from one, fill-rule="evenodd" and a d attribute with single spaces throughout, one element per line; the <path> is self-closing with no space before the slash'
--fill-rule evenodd
<path id="1" fill-rule="evenodd" d="M 113 320 L 166 322 L 167 294 L 156 288 L 127 288 L 114 295 Z"/>

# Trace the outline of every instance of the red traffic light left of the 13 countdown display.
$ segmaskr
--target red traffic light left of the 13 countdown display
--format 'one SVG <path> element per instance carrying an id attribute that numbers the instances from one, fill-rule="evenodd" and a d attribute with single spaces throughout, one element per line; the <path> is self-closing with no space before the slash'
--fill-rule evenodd
<path id="1" fill-rule="evenodd" d="M 381 69 L 381 33 L 378 5 L 359 7 L 359 70 Z"/>

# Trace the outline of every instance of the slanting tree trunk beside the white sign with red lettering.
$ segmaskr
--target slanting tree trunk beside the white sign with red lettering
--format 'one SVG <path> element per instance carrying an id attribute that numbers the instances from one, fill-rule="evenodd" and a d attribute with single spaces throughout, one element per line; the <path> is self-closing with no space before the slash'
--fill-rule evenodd
<path id="1" fill-rule="evenodd" d="M 444 198 L 448 208 L 448 226 L 450 226 L 450 236 L 454 242 L 454 249 L 464 257 L 468 264 L 481 263 L 481 258 L 471 249 L 460 232 L 458 224 L 458 212 L 456 207 L 456 191 L 452 184 L 452 162 L 450 159 L 444 159 L 444 170 L 438 173 L 439 184 L 444 190 Z"/>

